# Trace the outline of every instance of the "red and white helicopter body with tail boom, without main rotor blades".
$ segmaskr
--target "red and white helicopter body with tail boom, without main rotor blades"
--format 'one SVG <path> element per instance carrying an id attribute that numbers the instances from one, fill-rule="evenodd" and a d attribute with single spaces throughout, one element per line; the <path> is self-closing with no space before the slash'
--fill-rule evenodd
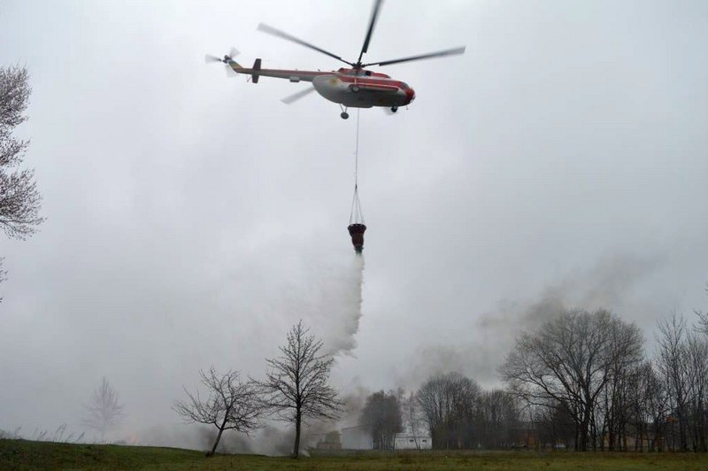
<path id="1" fill-rule="evenodd" d="M 342 67 L 332 72 L 262 69 L 260 60 L 257 60 L 252 68 L 242 67 L 233 60 L 228 62 L 228 65 L 235 73 L 250 75 L 254 83 L 258 83 L 259 77 L 273 77 L 292 82 L 310 81 L 320 96 L 351 108 L 397 108 L 410 104 L 415 99 L 415 91 L 404 81 L 396 81 L 385 73 L 365 69 Z"/>

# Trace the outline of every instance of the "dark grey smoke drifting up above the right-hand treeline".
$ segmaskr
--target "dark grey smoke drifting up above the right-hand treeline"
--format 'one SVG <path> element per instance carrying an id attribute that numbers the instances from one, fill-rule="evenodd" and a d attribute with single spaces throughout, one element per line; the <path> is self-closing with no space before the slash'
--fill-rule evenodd
<path id="1" fill-rule="evenodd" d="M 415 390 L 432 374 L 458 371 L 485 387 L 497 386 L 496 369 L 519 333 L 540 328 L 565 309 L 602 307 L 630 318 L 645 315 L 650 306 L 643 298 L 634 297 L 635 288 L 658 269 L 660 261 L 626 254 L 608 257 L 550 285 L 537 297 L 502 301 L 495 311 L 478 316 L 479 334 L 468 344 L 420 346 L 412 368 L 399 384 Z"/>

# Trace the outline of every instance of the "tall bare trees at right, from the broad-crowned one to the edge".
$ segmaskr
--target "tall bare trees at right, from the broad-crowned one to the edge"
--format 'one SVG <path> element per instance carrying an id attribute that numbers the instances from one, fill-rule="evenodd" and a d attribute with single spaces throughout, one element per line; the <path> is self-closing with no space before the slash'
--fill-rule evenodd
<path id="1" fill-rule="evenodd" d="M 550 443 L 579 451 L 706 452 L 704 327 L 689 328 L 675 314 L 660 321 L 658 351 L 649 358 L 635 324 L 604 310 L 566 311 L 519 336 L 500 374 Z"/>

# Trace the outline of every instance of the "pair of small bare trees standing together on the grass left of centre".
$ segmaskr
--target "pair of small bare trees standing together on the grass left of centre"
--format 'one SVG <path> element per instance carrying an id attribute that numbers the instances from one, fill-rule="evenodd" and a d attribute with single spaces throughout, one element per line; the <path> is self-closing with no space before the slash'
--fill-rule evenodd
<path id="1" fill-rule="evenodd" d="M 334 359 L 319 354 L 322 344 L 301 320 L 289 330 L 281 355 L 266 359 L 266 379 L 245 379 L 233 370 L 219 374 L 212 367 L 200 372 L 206 395 L 185 390 L 187 399 L 176 402 L 173 409 L 188 422 L 217 429 L 207 456 L 216 452 L 224 431 L 248 434 L 267 416 L 295 427 L 292 456 L 297 458 L 303 424 L 309 419 L 335 420 L 342 412 L 342 402 L 328 384 Z"/>

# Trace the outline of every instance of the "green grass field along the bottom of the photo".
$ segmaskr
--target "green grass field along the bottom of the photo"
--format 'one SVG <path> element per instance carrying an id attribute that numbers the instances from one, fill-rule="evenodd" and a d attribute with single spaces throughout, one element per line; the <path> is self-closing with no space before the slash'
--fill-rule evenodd
<path id="1" fill-rule="evenodd" d="M 0 469 L 246 469 L 246 470 L 467 470 L 568 469 L 708 470 L 708 455 L 696 453 L 575 452 L 398 452 L 301 459 L 219 455 L 177 448 L 53 444 L 0 440 Z"/>

